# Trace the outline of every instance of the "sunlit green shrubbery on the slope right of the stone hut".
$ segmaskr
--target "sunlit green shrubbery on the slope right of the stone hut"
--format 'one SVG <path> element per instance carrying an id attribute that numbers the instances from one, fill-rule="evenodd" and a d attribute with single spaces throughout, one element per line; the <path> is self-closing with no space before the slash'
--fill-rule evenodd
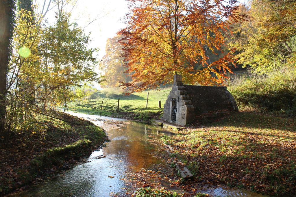
<path id="1" fill-rule="evenodd" d="M 265 77 L 249 77 L 229 91 L 240 109 L 260 112 L 296 112 L 296 69 L 273 72 Z"/>

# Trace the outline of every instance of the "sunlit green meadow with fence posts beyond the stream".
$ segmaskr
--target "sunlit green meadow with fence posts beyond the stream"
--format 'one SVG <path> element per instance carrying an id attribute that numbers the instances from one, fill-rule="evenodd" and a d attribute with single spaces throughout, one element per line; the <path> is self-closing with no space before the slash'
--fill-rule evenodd
<path id="1" fill-rule="evenodd" d="M 159 118 L 163 112 L 163 105 L 168 97 L 170 88 L 161 90 L 144 91 L 124 95 L 122 91 L 116 89 L 104 89 L 90 95 L 86 100 L 81 101 L 81 112 L 88 114 L 97 114 L 101 112 L 102 116 L 121 117 L 129 120 L 149 121 L 152 118 Z M 148 107 L 146 108 L 147 92 Z M 119 113 L 117 113 L 118 99 L 120 99 Z M 158 106 L 161 101 L 161 107 Z M 69 109 L 79 112 L 79 102 L 73 102 Z"/>

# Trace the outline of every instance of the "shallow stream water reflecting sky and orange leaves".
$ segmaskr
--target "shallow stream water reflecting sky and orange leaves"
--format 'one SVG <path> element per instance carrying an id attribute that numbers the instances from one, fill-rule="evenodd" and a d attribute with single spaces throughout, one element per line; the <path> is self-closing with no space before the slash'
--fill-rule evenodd
<path id="1" fill-rule="evenodd" d="M 79 113 L 73 113 L 77 115 Z M 97 115 L 81 114 L 81 117 L 90 119 L 96 125 L 104 125 L 104 121 L 124 121 L 121 119 L 100 117 Z M 164 133 L 165 131 L 162 131 Z M 170 132 L 165 132 L 170 135 Z M 159 130 L 147 127 L 141 122 L 126 124 L 120 129 L 108 132 L 110 142 L 99 151 L 89 156 L 88 162 L 78 164 L 67 170 L 63 175 L 41 183 L 30 190 L 12 196 L 112 196 L 114 193 L 123 193 L 126 187 L 122 178 L 129 170 L 148 168 L 161 161 L 152 156 L 157 147 L 149 143 L 149 135 L 159 136 Z M 261 196 L 256 193 L 227 188 L 207 188 L 201 190 L 214 196 Z"/>

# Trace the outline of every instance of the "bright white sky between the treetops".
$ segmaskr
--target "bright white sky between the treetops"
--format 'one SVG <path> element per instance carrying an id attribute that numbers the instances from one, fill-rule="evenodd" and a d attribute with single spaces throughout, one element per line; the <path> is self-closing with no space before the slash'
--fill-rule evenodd
<path id="1" fill-rule="evenodd" d="M 43 5 L 44 0 L 36 0 Z M 49 0 L 47 0 L 49 1 Z M 46 1 L 46 2 L 47 2 Z M 238 0 L 247 2 L 247 0 Z M 68 9 L 72 9 L 69 7 Z M 69 10 L 68 10 L 69 11 Z M 98 17 L 84 30 L 91 32 L 93 39 L 90 46 L 99 48 L 99 58 L 105 55 L 105 46 L 108 38 L 113 38 L 119 29 L 124 28 L 125 24 L 120 20 L 128 12 L 128 3 L 125 0 L 78 0 L 72 10 L 72 19 L 78 26 L 84 28 L 90 21 Z M 54 21 L 54 12 L 48 12 L 46 19 Z"/>

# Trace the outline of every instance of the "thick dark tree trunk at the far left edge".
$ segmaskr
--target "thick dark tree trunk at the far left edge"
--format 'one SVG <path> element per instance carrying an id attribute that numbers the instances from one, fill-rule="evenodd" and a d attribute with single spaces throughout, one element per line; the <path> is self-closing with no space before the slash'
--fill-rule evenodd
<path id="1" fill-rule="evenodd" d="M 0 134 L 4 133 L 5 130 L 6 74 L 9 61 L 9 45 L 13 28 L 13 7 L 13 0 L 0 1 Z M 3 137 L 5 138 L 6 136 Z"/>

